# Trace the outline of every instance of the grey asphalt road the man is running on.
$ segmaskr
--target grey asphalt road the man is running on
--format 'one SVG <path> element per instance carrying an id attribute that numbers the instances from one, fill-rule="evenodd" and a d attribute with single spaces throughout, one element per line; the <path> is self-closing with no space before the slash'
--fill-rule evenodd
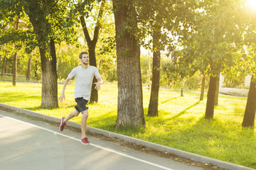
<path id="1" fill-rule="evenodd" d="M 146 154 L 80 133 L 0 111 L 0 169 L 3 170 L 198 170 L 154 154 Z M 201 169 L 202 170 L 202 169 Z"/>

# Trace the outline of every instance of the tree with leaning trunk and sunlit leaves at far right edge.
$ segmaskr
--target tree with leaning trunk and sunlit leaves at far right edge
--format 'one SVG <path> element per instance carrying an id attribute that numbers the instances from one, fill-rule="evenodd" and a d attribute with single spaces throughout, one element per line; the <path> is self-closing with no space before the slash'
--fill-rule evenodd
<path id="1" fill-rule="evenodd" d="M 242 4 L 239 11 L 237 11 L 239 16 L 237 19 L 237 27 L 240 28 L 242 32 L 240 36 L 243 41 L 240 50 L 240 60 L 237 59 L 236 64 L 238 64 L 239 69 L 243 68 L 246 72 L 252 74 L 242 127 L 254 128 L 256 113 L 256 11 L 249 6 L 250 4 L 246 4 L 246 1 L 242 3 L 245 4 Z"/>

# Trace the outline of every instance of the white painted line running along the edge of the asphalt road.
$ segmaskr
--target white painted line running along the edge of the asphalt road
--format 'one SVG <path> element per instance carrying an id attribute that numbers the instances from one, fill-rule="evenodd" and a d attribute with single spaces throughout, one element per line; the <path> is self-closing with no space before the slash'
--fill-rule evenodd
<path id="1" fill-rule="evenodd" d="M 68 138 L 70 138 L 71 140 L 76 140 L 76 141 L 80 142 L 79 139 L 77 139 L 77 138 L 75 138 L 75 137 L 70 137 L 70 136 L 68 136 L 68 135 L 64 135 L 64 134 L 62 134 L 62 133 L 60 133 L 60 132 L 55 132 L 55 131 L 53 131 L 53 130 L 48 130 L 48 129 L 42 128 L 42 127 L 40 127 L 40 126 L 38 126 L 38 125 L 33 125 L 33 124 L 31 124 L 31 123 L 26 123 L 26 122 L 23 122 L 23 121 L 21 121 L 21 120 L 17 120 L 17 119 L 15 119 L 15 118 L 10 118 L 10 117 L 5 116 L 5 115 L 1 115 L 1 114 L 0 114 L 0 116 L 1 116 L 1 117 L 4 117 L 4 118 L 9 118 L 9 119 L 11 119 L 11 120 L 15 120 L 16 122 L 19 122 L 19 123 L 23 123 L 23 124 L 26 124 L 26 125 L 33 126 L 33 127 L 35 127 L 35 128 L 41 129 L 41 130 L 46 130 L 46 131 L 48 131 L 48 132 L 53 132 L 53 134 L 57 134 L 57 135 L 60 135 L 60 136 L 63 136 L 63 137 L 68 137 Z M 90 145 L 92 145 L 93 147 L 97 147 L 97 148 L 106 150 L 106 151 L 108 151 L 108 152 L 112 152 L 112 153 L 114 153 L 114 154 L 119 154 L 119 155 L 121 155 L 121 156 L 123 156 L 123 157 L 127 157 L 127 158 L 129 158 L 129 159 L 134 159 L 134 160 L 136 160 L 136 161 L 138 161 L 138 162 L 143 162 L 143 163 L 145 163 L 145 164 L 150 164 L 150 165 L 152 165 L 152 166 L 156 166 L 156 167 L 161 168 L 161 169 L 174 170 L 174 169 L 169 169 L 169 168 L 167 168 L 167 167 L 165 167 L 165 166 L 161 166 L 161 165 L 159 165 L 159 164 L 154 164 L 154 163 L 152 163 L 152 162 L 147 162 L 147 161 L 145 161 L 145 160 L 143 160 L 143 159 L 139 159 L 139 158 L 136 158 L 136 157 L 129 156 L 129 155 L 127 155 L 127 154 L 123 154 L 123 153 L 121 153 L 121 152 L 114 151 L 114 150 L 112 150 L 112 149 L 107 149 L 107 148 L 105 148 L 105 147 L 100 147 L 99 145 L 95 145 L 95 144 L 92 144 L 92 143 L 90 143 Z"/>

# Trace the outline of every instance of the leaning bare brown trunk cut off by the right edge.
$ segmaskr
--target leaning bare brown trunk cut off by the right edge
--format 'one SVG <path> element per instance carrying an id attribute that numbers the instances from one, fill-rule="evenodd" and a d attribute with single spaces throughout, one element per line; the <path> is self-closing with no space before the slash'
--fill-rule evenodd
<path id="1" fill-rule="evenodd" d="M 245 115 L 242 120 L 242 127 L 251 127 L 255 126 L 255 112 L 256 112 L 256 79 L 255 76 L 252 76 L 250 82 L 250 89 L 247 97 L 247 103 L 245 107 Z"/>

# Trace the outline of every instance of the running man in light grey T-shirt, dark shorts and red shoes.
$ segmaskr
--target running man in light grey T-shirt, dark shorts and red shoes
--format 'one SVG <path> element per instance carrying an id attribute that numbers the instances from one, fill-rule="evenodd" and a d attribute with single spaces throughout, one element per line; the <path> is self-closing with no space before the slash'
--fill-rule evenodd
<path id="1" fill-rule="evenodd" d="M 86 106 L 87 102 L 90 99 L 91 88 L 92 88 L 92 79 L 95 76 L 97 78 L 97 82 L 95 83 L 95 89 L 100 90 L 100 84 L 103 83 L 100 73 L 98 72 L 96 67 L 89 65 L 89 55 L 87 52 L 81 52 L 79 55 L 79 60 L 82 65 L 75 67 L 70 74 L 68 74 L 68 78 L 65 79 L 63 85 L 63 91 L 58 98 L 58 101 L 63 102 L 65 99 L 65 88 L 68 85 L 70 79 L 75 77 L 75 101 L 77 105 L 75 106 L 75 111 L 70 113 L 66 118 L 61 118 L 60 123 L 60 131 L 63 131 L 65 128 L 66 123 L 71 118 L 78 116 L 79 113 L 82 113 L 81 119 L 81 142 L 84 145 L 90 144 L 88 138 L 85 135 L 86 126 L 87 126 L 87 118 L 88 118 L 88 107 Z"/>

